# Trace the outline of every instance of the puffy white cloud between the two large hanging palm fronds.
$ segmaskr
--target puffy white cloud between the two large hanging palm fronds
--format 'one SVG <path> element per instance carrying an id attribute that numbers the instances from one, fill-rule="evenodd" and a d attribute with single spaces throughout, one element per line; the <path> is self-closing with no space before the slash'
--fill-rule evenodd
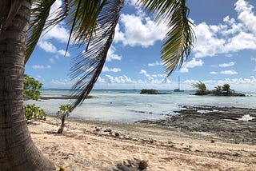
<path id="1" fill-rule="evenodd" d="M 144 15 L 121 14 L 119 23 L 123 31 L 118 25 L 114 42 L 122 42 L 124 46 L 153 46 L 154 42 L 166 37 L 166 27 Z"/>

